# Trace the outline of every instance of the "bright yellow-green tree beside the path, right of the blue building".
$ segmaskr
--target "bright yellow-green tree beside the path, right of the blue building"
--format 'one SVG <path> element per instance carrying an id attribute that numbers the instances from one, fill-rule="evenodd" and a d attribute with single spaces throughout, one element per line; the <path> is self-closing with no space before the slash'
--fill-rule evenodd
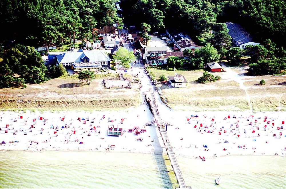
<path id="1" fill-rule="evenodd" d="M 114 59 L 120 60 L 124 68 L 129 68 L 131 61 L 135 60 L 135 57 L 132 51 L 128 51 L 124 47 L 119 47 L 118 51 L 114 56 Z"/>

